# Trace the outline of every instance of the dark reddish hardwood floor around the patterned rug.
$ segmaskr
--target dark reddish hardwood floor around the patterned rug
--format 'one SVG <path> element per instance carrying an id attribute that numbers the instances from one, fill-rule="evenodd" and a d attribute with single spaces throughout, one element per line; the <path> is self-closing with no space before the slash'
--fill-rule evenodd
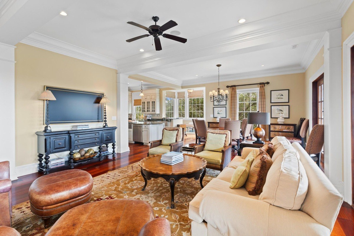
<path id="1" fill-rule="evenodd" d="M 195 134 L 188 134 L 187 137 L 184 138 L 185 144 L 194 142 Z M 97 175 L 107 173 L 108 171 L 113 171 L 115 169 L 119 169 L 121 167 L 138 162 L 144 157 L 146 157 L 146 154 L 149 150 L 149 146 L 147 145 L 132 143 L 129 144 L 129 148 L 129 152 L 124 152 L 122 154 L 118 153 L 115 159 L 112 159 L 112 156 L 108 156 L 107 158 L 104 158 L 101 162 L 95 160 L 89 163 L 77 165 L 75 166 L 75 168 L 84 169 L 85 171 L 89 172 L 92 177 L 95 177 Z M 237 155 L 236 153 L 237 152 L 232 152 L 231 158 L 234 158 L 235 155 Z M 65 167 L 59 167 L 55 170 L 52 170 L 51 172 L 61 171 L 64 169 Z M 36 178 L 42 175 L 42 173 L 28 174 L 19 177 L 17 180 L 12 181 L 12 205 L 28 201 L 29 186 Z M 348 205 L 348 203 L 343 203 L 331 235 L 354 235 L 354 209 L 350 205 Z"/>

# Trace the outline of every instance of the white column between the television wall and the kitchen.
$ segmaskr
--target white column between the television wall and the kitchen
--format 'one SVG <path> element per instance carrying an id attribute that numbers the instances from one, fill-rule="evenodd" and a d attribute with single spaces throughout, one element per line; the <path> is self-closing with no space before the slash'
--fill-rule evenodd
<path id="1" fill-rule="evenodd" d="M 117 74 L 117 152 L 129 151 L 128 145 L 128 76 Z"/>

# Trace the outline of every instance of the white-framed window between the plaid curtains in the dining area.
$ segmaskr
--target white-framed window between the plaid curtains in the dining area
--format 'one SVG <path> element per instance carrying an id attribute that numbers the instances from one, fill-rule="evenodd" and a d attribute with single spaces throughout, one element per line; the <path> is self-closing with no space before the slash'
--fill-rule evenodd
<path id="1" fill-rule="evenodd" d="M 238 117 L 239 120 L 247 118 L 249 112 L 258 111 L 259 89 L 239 90 L 237 92 Z"/>

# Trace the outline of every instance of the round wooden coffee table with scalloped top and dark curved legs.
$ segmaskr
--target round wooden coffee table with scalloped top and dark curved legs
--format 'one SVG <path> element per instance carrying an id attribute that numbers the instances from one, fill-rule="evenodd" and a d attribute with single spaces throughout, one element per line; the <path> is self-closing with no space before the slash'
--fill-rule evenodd
<path id="1" fill-rule="evenodd" d="M 145 190 L 148 180 L 151 178 L 164 178 L 170 183 L 171 208 L 175 208 L 175 183 L 182 178 L 195 180 L 199 179 L 201 188 L 204 188 L 202 181 L 206 172 L 206 160 L 200 156 L 183 154 L 184 160 L 173 166 L 161 163 L 161 155 L 145 157 L 140 161 L 141 175 L 145 180 L 142 191 Z"/>

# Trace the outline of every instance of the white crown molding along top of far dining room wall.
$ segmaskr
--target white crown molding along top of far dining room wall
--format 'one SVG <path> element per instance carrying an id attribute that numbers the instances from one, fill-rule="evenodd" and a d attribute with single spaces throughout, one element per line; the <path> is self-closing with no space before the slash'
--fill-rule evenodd
<path id="1" fill-rule="evenodd" d="M 268 70 L 258 70 L 258 71 L 237 73 L 237 74 L 221 77 L 220 81 L 252 79 L 252 78 L 259 78 L 259 77 L 297 74 L 297 73 L 304 73 L 304 72 L 305 71 L 301 68 L 301 66 L 297 65 L 291 67 L 280 67 L 280 68 L 268 69 Z M 206 77 L 206 78 L 202 78 L 202 82 L 200 81 L 200 79 L 183 80 L 182 86 L 200 85 L 200 84 L 208 84 L 208 83 L 215 83 L 215 82 L 217 82 L 215 77 Z"/>

